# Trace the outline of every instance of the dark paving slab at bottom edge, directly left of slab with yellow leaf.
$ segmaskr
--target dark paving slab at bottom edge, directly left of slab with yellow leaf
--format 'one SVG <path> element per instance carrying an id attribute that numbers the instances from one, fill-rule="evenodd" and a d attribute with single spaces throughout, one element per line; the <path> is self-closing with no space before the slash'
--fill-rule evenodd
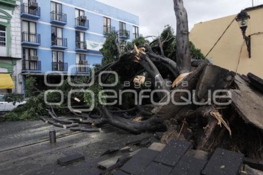
<path id="1" fill-rule="evenodd" d="M 175 168 L 171 171 L 170 175 L 200 175 L 206 162 L 206 160 L 183 156 L 175 165 Z"/>

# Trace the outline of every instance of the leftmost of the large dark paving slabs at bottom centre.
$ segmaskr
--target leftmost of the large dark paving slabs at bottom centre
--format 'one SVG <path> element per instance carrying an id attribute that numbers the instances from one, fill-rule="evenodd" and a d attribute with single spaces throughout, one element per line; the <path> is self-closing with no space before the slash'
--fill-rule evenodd
<path id="1" fill-rule="evenodd" d="M 132 175 L 139 175 L 157 156 L 158 152 L 148 148 L 142 148 L 135 156 L 133 156 L 121 170 Z"/>

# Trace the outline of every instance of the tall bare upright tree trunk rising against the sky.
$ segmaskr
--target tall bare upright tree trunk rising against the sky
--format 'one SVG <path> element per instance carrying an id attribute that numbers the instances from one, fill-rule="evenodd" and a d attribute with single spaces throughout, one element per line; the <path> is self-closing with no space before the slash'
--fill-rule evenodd
<path id="1" fill-rule="evenodd" d="M 174 0 L 174 10 L 176 16 L 176 63 L 180 74 L 192 71 L 189 37 L 188 18 L 183 6 L 183 0 Z"/>

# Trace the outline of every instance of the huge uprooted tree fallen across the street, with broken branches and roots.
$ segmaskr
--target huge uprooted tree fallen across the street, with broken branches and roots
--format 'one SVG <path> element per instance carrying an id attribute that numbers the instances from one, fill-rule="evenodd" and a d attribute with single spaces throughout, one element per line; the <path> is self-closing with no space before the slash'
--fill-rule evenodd
<path id="1" fill-rule="evenodd" d="M 235 122 L 240 122 L 236 111 L 244 120 L 248 120 L 246 122 L 258 127 L 253 130 L 253 134 L 258 129 L 262 130 L 260 120 L 262 117 L 255 117 L 253 112 L 260 115 L 263 112 L 261 108 L 263 105 L 259 104 L 259 108 L 248 112 L 242 110 L 246 106 L 244 104 L 246 99 L 253 101 L 248 96 L 252 94 L 258 97 L 258 93 L 254 91 L 252 93 L 252 90 L 247 88 L 248 83 L 241 81 L 240 76 L 234 72 L 214 66 L 208 60 L 200 59 L 204 56 L 189 42 L 187 12 L 182 0 L 174 0 L 174 10 L 177 21 L 176 36 L 173 29 L 166 26 L 162 34 L 154 37 L 152 42 L 147 41 L 145 37 L 139 37 L 126 46 L 120 46 L 118 32 L 111 32 L 108 35 L 101 49 L 104 56 L 102 64 L 95 66 L 94 84 L 88 87 L 88 90 L 92 90 L 95 94 L 95 108 L 91 112 L 83 113 L 75 109 L 67 111 L 74 117 L 61 118 L 56 115 L 60 112 L 59 108 L 51 107 L 50 109 L 50 106 L 41 105 L 40 111 L 48 109 L 45 113 L 51 117 L 42 116 L 41 119 L 66 128 L 78 124 L 91 126 L 110 124 L 133 134 L 165 130 L 161 139 L 163 143 L 168 143 L 170 139 L 187 139 L 196 149 L 201 150 L 223 145 L 222 140 L 227 140 L 229 144 L 224 144 L 228 147 L 233 146 L 233 149 L 235 149 L 234 145 L 240 145 L 232 142 L 230 144 L 229 141 L 231 136 L 234 137 L 240 132 L 233 127 Z M 103 87 L 99 83 L 98 79 L 103 71 L 117 72 L 118 79 L 108 72 L 101 75 L 102 83 L 110 84 L 117 81 L 115 86 Z M 92 82 L 91 77 L 85 82 Z M 150 82 L 149 86 L 147 82 Z M 129 85 L 125 85 L 127 83 Z M 255 84 L 254 81 L 252 83 Z M 245 86 L 242 87 L 244 84 Z M 66 92 L 72 90 L 66 85 L 63 87 L 67 87 L 64 89 Z M 120 99 L 120 96 L 123 97 L 121 101 L 117 100 L 122 104 L 105 105 L 99 102 L 99 93 L 102 90 L 116 92 L 131 90 L 132 92 L 117 95 L 117 99 Z M 158 105 L 152 104 L 152 101 L 147 98 L 141 100 L 141 104 L 136 103 L 139 97 L 135 93 L 142 92 L 142 96 L 148 96 L 152 91 L 156 91 L 152 97 L 154 102 L 159 103 Z M 242 91 L 244 94 L 240 95 Z M 228 92 L 234 94 L 232 103 L 227 103 L 231 99 Z M 110 92 L 102 94 L 112 95 Z M 212 95 L 218 98 L 215 100 Z M 91 106 L 90 94 L 77 94 L 74 97 L 72 97 L 73 101 L 77 98 L 76 104 L 81 103 L 79 107 Z M 258 101 L 261 103 L 260 97 Z M 114 100 L 107 98 L 102 101 L 112 103 Z M 88 107 L 84 107 L 83 103 Z M 255 104 L 251 102 L 249 108 L 256 108 Z M 258 121 L 261 123 L 257 123 Z M 259 139 L 256 142 L 261 143 L 262 133 L 258 135 Z M 248 144 L 252 143 L 248 142 Z M 261 145 L 258 143 L 255 145 L 257 150 L 255 152 L 261 155 L 263 152 Z"/>

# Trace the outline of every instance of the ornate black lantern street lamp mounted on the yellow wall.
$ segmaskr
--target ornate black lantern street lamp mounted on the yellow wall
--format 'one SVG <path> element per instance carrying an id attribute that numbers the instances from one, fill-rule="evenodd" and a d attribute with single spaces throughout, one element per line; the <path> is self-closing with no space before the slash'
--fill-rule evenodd
<path id="1" fill-rule="evenodd" d="M 246 45 L 247 45 L 247 48 L 248 48 L 248 56 L 249 56 L 249 58 L 251 58 L 251 45 L 250 45 L 251 37 L 250 37 L 250 35 L 246 36 L 246 30 L 248 28 L 248 19 L 250 19 L 250 16 L 244 10 L 242 10 L 237 15 L 237 17 L 235 18 L 235 20 L 239 24 L 240 29 L 242 30 L 242 35 L 243 35 L 243 38 L 244 38 Z"/>

